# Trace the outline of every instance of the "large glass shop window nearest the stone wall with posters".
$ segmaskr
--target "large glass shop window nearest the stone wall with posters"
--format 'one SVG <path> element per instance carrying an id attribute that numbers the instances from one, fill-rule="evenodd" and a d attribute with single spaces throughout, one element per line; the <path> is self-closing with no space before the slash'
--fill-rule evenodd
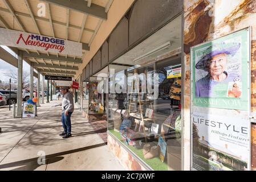
<path id="1" fill-rule="evenodd" d="M 181 170 L 182 163 L 181 53 L 173 53 L 181 35 L 173 26 L 170 22 L 108 68 L 108 133 L 161 171 Z"/>

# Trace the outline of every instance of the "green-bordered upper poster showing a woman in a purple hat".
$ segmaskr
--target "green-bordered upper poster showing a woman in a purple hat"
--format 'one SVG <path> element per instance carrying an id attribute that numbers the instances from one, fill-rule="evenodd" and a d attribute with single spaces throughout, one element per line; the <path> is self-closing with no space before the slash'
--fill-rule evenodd
<path id="1" fill-rule="evenodd" d="M 195 106 L 247 110 L 247 33 L 238 31 L 191 49 Z"/>

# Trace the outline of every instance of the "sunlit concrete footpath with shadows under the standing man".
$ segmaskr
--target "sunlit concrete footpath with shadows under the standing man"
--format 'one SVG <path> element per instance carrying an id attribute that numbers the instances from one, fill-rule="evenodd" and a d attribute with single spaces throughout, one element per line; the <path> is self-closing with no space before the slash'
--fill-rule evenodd
<path id="1" fill-rule="evenodd" d="M 0 170 L 124 170 L 99 136 L 105 131 L 78 109 L 71 118 L 72 137 L 59 136 L 61 107 L 50 107 L 59 102 L 41 105 L 38 118 L 31 119 L 13 119 L 9 107 L 0 107 Z"/>

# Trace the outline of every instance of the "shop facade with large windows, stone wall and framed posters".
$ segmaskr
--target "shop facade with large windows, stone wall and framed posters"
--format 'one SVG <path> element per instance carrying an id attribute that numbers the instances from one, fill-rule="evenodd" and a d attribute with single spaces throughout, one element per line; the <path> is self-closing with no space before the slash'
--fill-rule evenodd
<path id="1" fill-rule="evenodd" d="M 84 116 L 107 120 L 125 168 L 255 169 L 255 9 L 242 0 L 133 3 L 79 78 Z"/>

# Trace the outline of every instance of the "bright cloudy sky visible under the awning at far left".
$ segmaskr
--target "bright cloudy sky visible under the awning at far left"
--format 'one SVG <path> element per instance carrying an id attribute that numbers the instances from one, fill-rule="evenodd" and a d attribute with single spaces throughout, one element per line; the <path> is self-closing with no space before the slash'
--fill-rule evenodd
<path id="1" fill-rule="evenodd" d="M 6 46 L 1 46 L 2 48 L 6 49 L 11 55 L 15 55 L 15 53 L 10 52 L 10 49 Z M 9 77 L 5 76 L 5 73 L 8 73 L 10 71 L 17 72 L 18 68 L 15 68 L 13 65 L 7 63 L 6 61 L 0 59 L 0 80 L 9 82 Z M 26 61 L 23 60 L 23 72 L 27 71 L 30 72 L 30 65 L 26 63 Z"/>

